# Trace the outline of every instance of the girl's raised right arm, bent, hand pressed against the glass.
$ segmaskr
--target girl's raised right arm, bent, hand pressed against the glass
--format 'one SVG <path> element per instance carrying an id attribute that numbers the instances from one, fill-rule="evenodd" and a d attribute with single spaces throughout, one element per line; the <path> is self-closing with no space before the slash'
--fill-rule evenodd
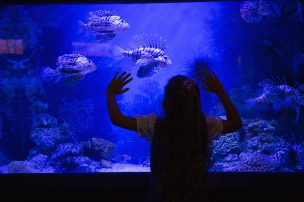
<path id="1" fill-rule="evenodd" d="M 198 80 L 202 81 L 205 85 L 202 84 L 203 89 L 210 93 L 215 93 L 220 98 L 220 101 L 225 109 L 227 120 L 223 120 L 223 132 L 222 133 L 232 133 L 239 130 L 242 126 L 241 117 L 236 109 L 236 106 L 231 101 L 230 97 L 224 90 L 220 79 L 217 75 L 212 71 L 213 76 L 207 71 L 200 71 L 200 73 L 204 76 L 203 78 L 198 78 Z"/>

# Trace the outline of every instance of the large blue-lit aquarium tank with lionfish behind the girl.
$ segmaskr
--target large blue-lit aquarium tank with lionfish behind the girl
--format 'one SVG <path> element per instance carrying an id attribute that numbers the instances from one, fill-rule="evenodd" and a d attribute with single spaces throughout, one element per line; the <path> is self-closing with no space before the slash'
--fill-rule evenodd
<path id="1" fill-rule="evenodd" d="M 0 5 L 0 173 L 150 172 L 150 144 L 111 123 L 163 114 L 172 76 L 214 70 L 243 127 L 211 171 L 304 171 L 303 0 Z M 146 48 L 149 51 L 140 51 Z M 152 54 L 151 50 L 157 54 Z M 201 88 L 202 110 L 225 119 Z"/>

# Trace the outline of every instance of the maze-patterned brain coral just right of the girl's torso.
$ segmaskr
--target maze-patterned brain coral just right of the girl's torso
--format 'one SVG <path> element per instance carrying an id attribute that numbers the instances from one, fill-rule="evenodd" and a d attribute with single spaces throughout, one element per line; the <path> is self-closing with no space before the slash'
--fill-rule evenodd
<path id="1" fill-rule="evenodd" d="M 239 133 L 228 133 L 220 136 L 218 140 L 213 140 L 213 154 L 216 157 L 223 157 L 229 154 L 239 154 L 242 150 L 239 144 Z"/>

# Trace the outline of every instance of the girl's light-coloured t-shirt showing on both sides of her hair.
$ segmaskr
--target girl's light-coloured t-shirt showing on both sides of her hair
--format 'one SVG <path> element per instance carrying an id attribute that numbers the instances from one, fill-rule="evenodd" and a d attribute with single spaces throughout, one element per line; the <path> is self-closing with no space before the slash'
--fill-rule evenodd
<path id="1" fill-rule="evenodd" d="M 211 140 L 219 139 L 223 132 L 222 119 L 218 116 L 205 116 L 207 124 L 209 126 Z M 149 115 L 138 115 L 134 116 L 137 123 L 137 132 L 139 137 L 145 138 L 150 144 L 152 142 L 154 134 L 154 126 L 157 119 L 156 114 L 151 113 Z"/>

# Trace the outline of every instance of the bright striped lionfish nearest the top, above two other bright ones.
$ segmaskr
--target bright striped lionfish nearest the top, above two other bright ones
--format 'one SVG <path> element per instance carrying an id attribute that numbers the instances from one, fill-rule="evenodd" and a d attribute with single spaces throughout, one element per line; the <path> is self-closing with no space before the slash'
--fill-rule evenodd
<path id="1" fill-rule="evenodd" d="M 96 40 L 99 43 L 106 43 L 113 39 L 116 34 L 128 31 L 130 28 L 129 24 L 121 19 L 115 11 L 91 11 L 88 13 L 88 23 L 81 20 L 78 22 L 78 33 L 89 30 L 93 35 L 96 35 Z"/>

